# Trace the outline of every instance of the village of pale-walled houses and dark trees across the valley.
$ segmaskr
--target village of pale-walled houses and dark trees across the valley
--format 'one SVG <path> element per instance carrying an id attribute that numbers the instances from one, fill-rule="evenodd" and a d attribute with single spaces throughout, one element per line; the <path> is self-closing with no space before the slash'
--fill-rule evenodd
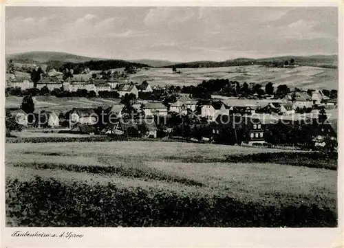
<path id="1" fill-rule="evenodd" d="M 41 67 L 34 69 L 39 70 Z M 202 82 L 199 86 L 205 86 L 202 89 L 206 92 L 200 92 L 201 87 L 152 86 L 147 80 L 132 82 L 126 77 L 125 71 L 116 70 L 89 74 L 87 69 L 84 74 L 74 74 L 73 69 L 64 72 L 51 69 L 34 82 L 28 77 L 6 74 L 7 95 L 120 100 L 109 106 L 78 106 L 59 113 L 49 109 L 25 111 L 23 106 L 8 108 L 8 115 L 17 117 L 21 124 L 14 131 L 45 133 L 45 136 L 54 133 L 55 136 L 174 137 L 189 142 L 336 149 L 333 145 L 336 117 L 329 121 L 327 116 L 327 112 L 336 112 L 336 92 L 297 88 L 290 91 L 283 85 L 274 91 L 271 83 L 264 91 L 257 84 L 240 86 L 239 82 L 228 80 Z M 211 89 L 219 84 L 224 87 Z M 241 92 L 244 88 L 247 92 Z M 283 134 L 279 125 L 285 127 L 288 135 Z M 303 128 L 308 132 L 302 132 Z M 308 133 L 308 137 L 299 139 L 302 133 Z M 288 138 L 282 138 L 283 135 Z"/>

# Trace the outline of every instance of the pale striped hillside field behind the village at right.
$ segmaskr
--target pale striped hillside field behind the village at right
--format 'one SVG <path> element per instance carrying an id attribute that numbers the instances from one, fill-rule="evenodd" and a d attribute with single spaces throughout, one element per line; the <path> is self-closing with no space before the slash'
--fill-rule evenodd
<path id="1" fill-rule="evenodd" d="M 241 72 L 237 72 L 237 69 Z M 240 83 L 258 82 L 266 84 L 272 82 L 275 87 L 287 84 L 288 87 L 299 89 L 338 89 L 338 70 L 320 67 L 296 68 L 268 68 L 259 65 L 243 67 L 217 67 L 217 68 L 183 68 L 181 74 L 173 74 L 171 68 L 142 69 L 137 74 L 129 75 L 129 80 L 142 82 L 149 81 L 152 85 L 174 84 L 197 85 L 202 80 L 215 78 L 228 78 Z"/>

